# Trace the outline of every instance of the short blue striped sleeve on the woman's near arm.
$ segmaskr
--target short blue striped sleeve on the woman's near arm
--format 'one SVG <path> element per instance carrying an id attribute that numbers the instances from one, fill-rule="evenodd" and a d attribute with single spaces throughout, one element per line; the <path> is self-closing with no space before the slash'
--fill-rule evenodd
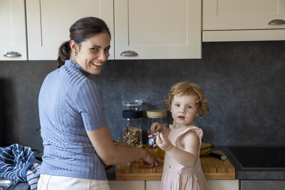
<path id="1" fill-rule="evenodd" d="M 103 97 L 94 81 L 82 83 L 77 92 L 76 104 L 85 130 L 96 130 L 107 125 Z"/>

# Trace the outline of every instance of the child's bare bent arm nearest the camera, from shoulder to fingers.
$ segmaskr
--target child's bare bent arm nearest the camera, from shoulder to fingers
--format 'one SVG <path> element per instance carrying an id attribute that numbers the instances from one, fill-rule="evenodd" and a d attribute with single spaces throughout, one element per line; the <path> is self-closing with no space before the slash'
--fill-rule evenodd
<path id="1" fill-rule="evenodd" d="M 156 136 L 156 143 L 183 166 L 194 167 L 198 160 L 198 137 L 194 131 L 187 132 L 181 138 L 181 145 L 184 146 L 185 151 L 174 146 L 162 133 Z"/>

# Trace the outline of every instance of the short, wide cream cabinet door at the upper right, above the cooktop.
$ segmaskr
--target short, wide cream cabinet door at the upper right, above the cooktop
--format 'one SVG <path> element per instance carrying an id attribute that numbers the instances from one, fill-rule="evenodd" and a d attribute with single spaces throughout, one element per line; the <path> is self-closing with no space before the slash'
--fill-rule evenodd
<path id="1" fill-rule="evenodd" d="M 285 20 L 285 0 L 203 0 L 203 30 L 285 28 L 268 24 L 276 19 Z"/>

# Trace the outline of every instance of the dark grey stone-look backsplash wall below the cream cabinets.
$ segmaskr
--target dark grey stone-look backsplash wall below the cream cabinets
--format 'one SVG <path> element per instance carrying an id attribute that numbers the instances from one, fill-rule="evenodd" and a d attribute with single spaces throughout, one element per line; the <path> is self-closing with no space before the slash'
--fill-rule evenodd
<path id="1" fill-rule="evenodd" d="M 123 139 L 122 100 L 143 100 L 146 111 L 165 109 L 171 85 L 192 81 L 209 100 L 211 113 L 198 117 L 203 141 L 216 145 L 285 145 L 285 41 L 207 42 L 202 59 L 109 60 L 100 75 L 90 75 L 101 89 L 113 139 Z M 0 61 L 1 141 L 41 147 L 36 130 L 38 93 L 56 61 Z M 1 96 L 0 96 L 1 97 Z M 168 122 L 172 122 L 168 111 Z M 3 146 L 3 145 L 2 145 Z"/>

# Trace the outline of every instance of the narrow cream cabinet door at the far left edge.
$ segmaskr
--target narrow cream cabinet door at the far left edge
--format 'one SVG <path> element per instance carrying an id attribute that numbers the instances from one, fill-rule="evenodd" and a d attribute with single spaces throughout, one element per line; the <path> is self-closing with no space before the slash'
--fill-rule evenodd
<path id="1" fill-rule="evenodd" d="M 0 60 L 27 60 L 25 18 L 25 0 L 0 1 Z"/>

